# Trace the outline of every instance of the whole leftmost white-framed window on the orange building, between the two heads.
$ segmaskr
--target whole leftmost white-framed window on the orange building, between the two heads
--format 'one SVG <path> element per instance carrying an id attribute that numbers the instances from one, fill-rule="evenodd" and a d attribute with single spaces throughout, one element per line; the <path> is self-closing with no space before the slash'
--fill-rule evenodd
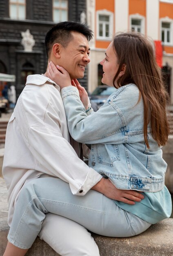
<path id="1" fill-rule="evenodd" d="M 113 35 L 113 13 L 107 10 L 97 11 L 97 39 L 111 40 Z"/>

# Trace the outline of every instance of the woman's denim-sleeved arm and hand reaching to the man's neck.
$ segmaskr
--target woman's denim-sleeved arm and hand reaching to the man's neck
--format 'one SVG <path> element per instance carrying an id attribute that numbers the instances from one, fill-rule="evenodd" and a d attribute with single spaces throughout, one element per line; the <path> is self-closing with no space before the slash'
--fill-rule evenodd
<path id="1" fill-rule="evenodd" d="M 47 75 L 62 88 L 62 101 L 71 136 L 85 144 L 114 144 L 115 136 L 112 135 L 123 131 L 119 113 L 111 104 L 104 104 L 97 112 L 87 115 L 80 101 L 78 89 L 71 85 L 69 73 L 58 66 L 60 72 L 55 65 L 52 68 L 52 65 L 54 64 L 49 65 Z M 117 143 L 123 142 L 117 141 Z"/>

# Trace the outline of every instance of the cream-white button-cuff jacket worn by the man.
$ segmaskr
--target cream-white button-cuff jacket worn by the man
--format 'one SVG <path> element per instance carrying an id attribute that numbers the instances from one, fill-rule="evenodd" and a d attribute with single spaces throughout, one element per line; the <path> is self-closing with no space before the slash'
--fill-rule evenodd
<path id="1" fill-rule="evenodd" d="M 85 195 L 102 178 L 69 144 L 60 88 L 46 76 L 27 77 L 7 126 L 2 173 L 8 189 L 9 225 L 20 190 L 29 180 L 59 177 L 69 183 L 74 195 Z"/>

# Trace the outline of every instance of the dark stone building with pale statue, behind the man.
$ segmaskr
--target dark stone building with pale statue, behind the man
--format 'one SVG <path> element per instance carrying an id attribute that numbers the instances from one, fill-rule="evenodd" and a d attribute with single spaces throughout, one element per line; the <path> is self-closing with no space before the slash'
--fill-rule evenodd
<path id="1" fill-rule="evenodd" d="M 16 2 L 16 6 L 13 2 Z M 20 5 L 19 2 L 23 3 Z M 59 10 L 64 4 L 66 10 Z M 63 18 L 67 17 L 66 20 L 80 21 L 82 11 L 86 13 L 86 0 L 0 0 L 0 73 L 16 75 L 13 85 L 16 86 L 17 98 L 28 74 L 46 71 L 44 37 L 48 29 L 58 22 L 55 18 L 53 21 L 53 16 L 59 11 Z M 32 51 L 27 51 L 21 44 L 21 32 L 27 29 L 35 40 Z M 87 88 L 87 71 L 80 82 Z"/>

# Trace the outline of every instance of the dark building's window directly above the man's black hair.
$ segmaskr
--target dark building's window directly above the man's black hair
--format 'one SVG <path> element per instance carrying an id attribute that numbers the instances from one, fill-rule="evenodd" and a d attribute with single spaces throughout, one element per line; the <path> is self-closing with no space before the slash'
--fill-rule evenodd
<path id="1" fill-rule="evenodd" d="M 53 0 L 53 21 L 67 21 L 68 20 L 68 1 L 67 0 Z"/>

